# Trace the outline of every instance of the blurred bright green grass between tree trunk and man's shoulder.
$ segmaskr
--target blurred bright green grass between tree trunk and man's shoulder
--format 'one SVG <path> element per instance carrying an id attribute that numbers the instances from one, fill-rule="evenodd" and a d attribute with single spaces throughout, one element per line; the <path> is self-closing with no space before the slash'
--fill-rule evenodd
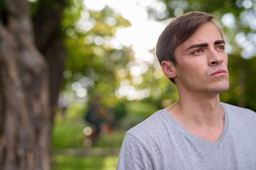
<path id="1" fill-rule="evenodd" d="M 110 154 L 81 156 L 61 155 L 57 151 L 66 151 L 69 149 L 79 149 L 88 152 L 83 145 L 83 140 L 87 137 L 83 129 L 89 126 L 83 120 L 83 114 L 79 107 L 71 108 L 67 111 L 65 117 L 56 114 L 54 126 L 52 129 L 52 153 L 53 163 L 51 170 L 115 170 L 118 156 Z M 102 133 L 99 136 L 96 148 L 119 148 L 124 139 L 125 132 L 120 130 Z M 87 149 L 87 150 L 86 150 Z"/>

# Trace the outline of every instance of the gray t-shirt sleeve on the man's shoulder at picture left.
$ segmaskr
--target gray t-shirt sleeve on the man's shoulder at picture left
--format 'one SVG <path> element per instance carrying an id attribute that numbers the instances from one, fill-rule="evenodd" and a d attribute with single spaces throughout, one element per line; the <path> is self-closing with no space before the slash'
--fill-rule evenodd
<path id="1" fill-rule="evenodd" d="M 153 170 L 153 165 L 145 148 L 130 133 L 126 133 L 124 137 L 117 170 Z"/>

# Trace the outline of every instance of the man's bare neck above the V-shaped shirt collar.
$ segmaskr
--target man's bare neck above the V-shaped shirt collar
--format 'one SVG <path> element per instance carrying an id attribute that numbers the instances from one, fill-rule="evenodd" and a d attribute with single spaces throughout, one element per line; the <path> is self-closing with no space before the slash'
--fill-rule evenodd
<path id="1" fill-rule="evenodd" d="M 216 142 L 222 133 L 224 110 L 219 95 L 213 98 L 180 96 L 168 111 L 184 128 L 202 139 Z"/>

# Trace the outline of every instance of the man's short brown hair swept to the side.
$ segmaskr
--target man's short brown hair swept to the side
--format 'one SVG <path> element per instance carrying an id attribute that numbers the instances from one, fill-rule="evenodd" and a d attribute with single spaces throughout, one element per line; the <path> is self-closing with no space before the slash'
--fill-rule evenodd
<path id="1" fill-rule="evenodd" d="M 217 17 L 209 13 L 193 11 L 173 19 L 166 26 L 157 41 L 156 55 L 160 64 L 162 61 L 171 61 L 174 65 L 177 65 L 178 63 L 174 55 L 177 46 L 189 39 L 202 24 L 208 21 L 215 24 L 212 21 L 214 18 Z M 222 38 L 224 38 L 220 28 L 217 25 L 216 27 L 220 31 Z M 170 80 L 175 84 L 173 78 L 170 78 Z"/>

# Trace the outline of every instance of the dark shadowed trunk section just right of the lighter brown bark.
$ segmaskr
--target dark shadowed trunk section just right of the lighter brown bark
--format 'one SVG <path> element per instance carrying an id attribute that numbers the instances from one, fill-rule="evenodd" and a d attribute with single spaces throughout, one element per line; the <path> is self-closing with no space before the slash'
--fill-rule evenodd
<path id="1" fill-rule="evenodd" d="M 35 44 L 49 66 L 49 93 L 52 118 L 62 83 L 65 50 L 62 42 L 61 19 L 66 0 L 41 0 L 33 18 Z"/>

